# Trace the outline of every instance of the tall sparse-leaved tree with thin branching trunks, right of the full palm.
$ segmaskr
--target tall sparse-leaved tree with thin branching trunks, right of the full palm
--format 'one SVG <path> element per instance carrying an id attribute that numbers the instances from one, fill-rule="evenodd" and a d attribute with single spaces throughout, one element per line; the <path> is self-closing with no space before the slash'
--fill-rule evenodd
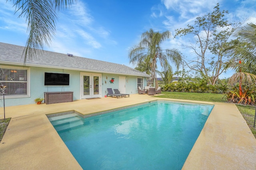
<path id="1" fill-rule="evenodd" d="M 192 49 L 196 57 L 185 61 L 186 65 L 199 72 L 212 85 L 218 80 L 218 76 L 226 70 L 225 63 L 228 61 L 224 49 L 230 36 L 240 23 L 230 23 L 225 14 L 228 11 L 220 11 L 220 4 L 214 7 L 212 13 L 197 17 L 194 25 L 187 28 L 176 29 L 176 36 L 192 35 L 192 42 L 184 47 Z"/>

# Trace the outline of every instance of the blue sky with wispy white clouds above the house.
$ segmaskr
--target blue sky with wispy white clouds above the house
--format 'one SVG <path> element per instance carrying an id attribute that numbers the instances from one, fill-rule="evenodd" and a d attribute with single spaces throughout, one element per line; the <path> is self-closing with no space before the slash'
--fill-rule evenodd
<path id="1" fill-rule="evenodd" d="M 256 0 L 78 0 L 58 12 L 56 35 L 44 49 L 134 68 L 128 52 L 143 32 L 152 28 L 174 35 L 175 29 L 211 13 L 217 3 L 220 10 L 229 11 L 228 20 L 256 23 Z M 0 0 L 0 42 L 24 46 L 28 37 L 26 19 L 14 15 L 12 6 L 12 1 Z M 186 41 L 186 37 L 172 37 L 163 49 L 177 48 L 184 56 L 192 56 L 179 45 Z M 228 71 L 220 78 L 231 75 Z"/>

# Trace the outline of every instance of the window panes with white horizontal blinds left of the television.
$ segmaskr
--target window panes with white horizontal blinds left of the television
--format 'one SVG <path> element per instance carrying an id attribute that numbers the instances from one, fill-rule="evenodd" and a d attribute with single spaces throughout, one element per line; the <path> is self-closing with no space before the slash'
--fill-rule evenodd
<path id="1" fill-rule="evenodd" d="M 5 96 L 28 95 L 28 69 L 1 67 L 0 84 L 6 86 Z"/>

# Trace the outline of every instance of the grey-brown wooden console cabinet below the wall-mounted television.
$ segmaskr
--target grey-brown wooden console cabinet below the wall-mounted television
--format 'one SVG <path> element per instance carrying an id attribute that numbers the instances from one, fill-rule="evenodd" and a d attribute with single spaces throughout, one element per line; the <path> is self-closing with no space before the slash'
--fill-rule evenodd
<path id="1" fill-rule="evenodd" d="M 73 102 L 73 92 L 44 92 L 44 103 Z"/>

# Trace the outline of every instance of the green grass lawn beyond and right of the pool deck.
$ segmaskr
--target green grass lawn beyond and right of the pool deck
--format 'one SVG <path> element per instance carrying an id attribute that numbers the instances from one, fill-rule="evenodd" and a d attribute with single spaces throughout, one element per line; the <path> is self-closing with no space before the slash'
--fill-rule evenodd
<path id="1" fill-rule="evenodd" d="M 197 100 L 205 102 L 226 102 L 223 98 L 223 94 L 214 93 L 184 93 L 184 92 L 162 92 L 161 96 L 155 96 L 157 98 L 172 98 L 183 100 Z M 236 104 L 236 107 L 243 115 L 248 126 L 250 127 L 254 137 L 256 138 L 256 128 L 254 128 L 254 115 L 255 106 L 244 106 Z"/>

